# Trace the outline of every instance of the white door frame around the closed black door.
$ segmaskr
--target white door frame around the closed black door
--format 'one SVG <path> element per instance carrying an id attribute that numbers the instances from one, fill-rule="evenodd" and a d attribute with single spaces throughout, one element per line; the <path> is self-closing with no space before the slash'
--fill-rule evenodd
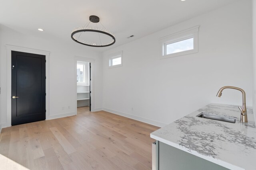
<path id="1" fill-rule="evenodd" d="M 46 119 L 49 117 L 49 57 L 50 57 L 50 52 L 48 51 L 42 51 L 42 50 L 37 50 L 37 49 L 29 49 L 29 48 L 24 48 L 24 47 L 17 47 L 13 45 L 6 45 L 6 51 L 7 51 L 7 68 L 6 68 L 6 76 L 7 76 L 7 81 L 6 81 L 6 101 L 7 101 L 7 122 L 3 123 L 2 127 L 10 127 L 11 126 L 11 92 L 12 92 L 12 51 L 20 51 L 24 53 L 33 53 L 33 54 L 39 54 L 39 55 L 45 55 L 46 59 L 46 65 L 45 65 L 45 75 L 46 75 Z"/>

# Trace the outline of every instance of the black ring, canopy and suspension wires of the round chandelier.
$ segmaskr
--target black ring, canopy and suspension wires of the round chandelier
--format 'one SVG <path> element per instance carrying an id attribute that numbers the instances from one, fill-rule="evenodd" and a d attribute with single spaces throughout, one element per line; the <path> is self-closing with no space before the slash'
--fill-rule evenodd
<path id="1" fill-rule="evenodd" d="M 71 38 L 76 42 L 76 43 L 80 43 L 82 45 L 87 45 L 90 47 L 108 47 L 110 45 L 113 45 L 116 42 L 116 38 L 114 37 L 114 35 L 112 35 L 112 33 L 110 33 L 109 31 L 106 30 L 106 28 L 104 27 L 104 25 L 101 25 L 104 27 L 104 29 L 98 29 L 98 25 L 97 23 L 100 22 L 100 18 L 98 16 L 90 16 L 89 17 L 90 22 L 86 23 L 86 26 L 84 27 L 78 27 L 73 29 L 72 33 L 71 33 Z M 94 27 L 88 27 L 90 23 L 96 23 L 96 28 Z M 100 40 L 100 44 L 97 43 L 93 43 L 93 42 L 88 42 L 88 41 L 84 41 L 84 40 L 80 40 L 80 36 L 83 32 L 96 32 L 98 33 L 98 37 Z M 80 33 L 80 35 L 78 37 L 75 37 L 75 34 Z M 100 33 L 101 34 L 105 34 L 108 35 L 109 37 L 112 38 L 112 41 L 108 42 L 108 43 L 102 43 L 101 39 L 100 39 Z"/>

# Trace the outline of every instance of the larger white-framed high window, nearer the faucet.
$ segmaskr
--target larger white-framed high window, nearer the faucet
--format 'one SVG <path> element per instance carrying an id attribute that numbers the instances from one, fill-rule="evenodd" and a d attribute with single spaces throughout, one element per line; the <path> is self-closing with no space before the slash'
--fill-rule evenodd
<path id="1" fill-rule="evenodd" d="M 161 58 L 197 53 L 198 30 L 199 26 L 196 26 L 160 38 Z"/>

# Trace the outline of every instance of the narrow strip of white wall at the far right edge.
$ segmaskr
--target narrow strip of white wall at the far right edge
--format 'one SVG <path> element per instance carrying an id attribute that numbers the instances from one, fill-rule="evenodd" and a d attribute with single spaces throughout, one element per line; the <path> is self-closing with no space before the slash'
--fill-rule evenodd
<path id="1" fill-rule="evenodd" d="M 256 121 L 256 0 L 252 0 L 253 110 Z"/>

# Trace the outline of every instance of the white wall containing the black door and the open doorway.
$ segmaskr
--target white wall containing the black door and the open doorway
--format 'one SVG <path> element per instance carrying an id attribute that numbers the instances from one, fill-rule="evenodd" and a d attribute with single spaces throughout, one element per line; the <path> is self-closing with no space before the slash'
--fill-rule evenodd
<path id="1" fill-rule="evenodd" d="M 74 115 L 76 113 L 75 56 L 95 59 L 94 62 L 94 108 L 102 108 L 102 57 L 101 53 L 88 50 L 83 45 L 61 43 L 54 37 L 24 35 L 0 25 L 0 121 L 6 126 L 6 47 L 14 45 L 30 49 L 50 51 L 50 118 Z M 70 41 L 72 41 L 70 39 Z M 48 95 L 48 94 L 47 94 Z M 70 109 L 68 109 L 70 106 Z M 64 107 L 64 110 L 62 110 Z"/>

